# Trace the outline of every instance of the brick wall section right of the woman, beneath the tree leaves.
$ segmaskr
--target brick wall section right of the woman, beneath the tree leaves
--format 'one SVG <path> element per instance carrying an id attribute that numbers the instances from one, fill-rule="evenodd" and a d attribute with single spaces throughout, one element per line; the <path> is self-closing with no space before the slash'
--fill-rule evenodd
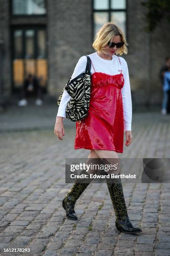
<path id="1" fill-rule="evenodd" d="M 169 54 L 170 24 L 164 19 L 154 32 L 145 32 L 145 13 L 148 9 L 138 0 L 127 2 L 129 53 L 124 58 L 128 62 L 131 89 L 138 103 L 160 104 L 162 85 L 159 71 Z"/>

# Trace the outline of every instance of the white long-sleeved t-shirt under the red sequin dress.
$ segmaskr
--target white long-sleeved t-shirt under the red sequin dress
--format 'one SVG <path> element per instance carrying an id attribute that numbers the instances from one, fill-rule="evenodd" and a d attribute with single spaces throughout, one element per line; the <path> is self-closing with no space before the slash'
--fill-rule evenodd
<path id="1" fill-rule="evenodd" d="M 123 102 L 124 131 L 132 131 L 131 130 L 132 100 L 131 100 L 130 80 L 129 80 L 127 62 L 122 57 L 118 58 L 118 56 L 116 56 L 115 54 L 112 56 L 111 60 L 106 60 L 101 58 L 97 54 L 97 52 L 89 54 L 88 56 L 92 61 L 91 74 L 93 74 L 94 72 L 102 72 L 110 75 L 115 75 L 115 74 L 120 74 L 120 70 L 122 69 L 122 74 L 125 81 L 121 89 L 122 102 Z M 87 64 L 87 57 L 86 56 L 80 57 L 80 59 L 78 60 L 75 66 L 71 80 L 77 77 L 79 74 L 85 72 L 86 64 Z M 93 67 L 95 70 L 93 69 Z M 63 120 L 66 118 L 65 111 L 70 99 L 71 99 L 71 96 L 66 91 L 64 91 L 62 94 L 61 102 L 60 102 L 58 113 L 57 113 L 57 116 L 63 117 Z"/>

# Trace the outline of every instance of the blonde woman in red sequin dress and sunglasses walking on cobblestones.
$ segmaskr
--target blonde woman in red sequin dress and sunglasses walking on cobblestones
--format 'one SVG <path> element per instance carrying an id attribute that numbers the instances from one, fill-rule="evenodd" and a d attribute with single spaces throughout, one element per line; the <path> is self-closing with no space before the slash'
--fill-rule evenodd
<path id="1" fill-rule="evenodd" d="M 88 115 L 76 122 L 75 149 L 90 149 L 88 159 L 118 159 L 117 152 L 123 152 L 123 133 L 126 133 L 125 146 L 132 143 L 131 121 L 132 101 L 128 66 L 122 57 L 115 54 L 127 54 L 125 35 L 114 23 L 108 22 L 100 28 L 92 46 L 95 52 L 89 54 L 91 59 L 91 92 Z M 74 79 L 85 72 L 87 57 L 80 57 L 72 74 Z M 70 95 L 62 95 L 57 113 L 54 132 L 62 140 L 64 136 L 65 109 Z M 93 172 L 93 171 L 92 171 Z M 80 181 L 79 181 L 80 182 Z M 138 233 L 142 230 L 133 227 L 128 218 L 122 184 L 110 183 L 107 187 L 115 210 L 115 225 L 124 233 Z M 74 205 L 89 183 L 73 184 L 62 201 L 67 218 L 77 220 Z"/>

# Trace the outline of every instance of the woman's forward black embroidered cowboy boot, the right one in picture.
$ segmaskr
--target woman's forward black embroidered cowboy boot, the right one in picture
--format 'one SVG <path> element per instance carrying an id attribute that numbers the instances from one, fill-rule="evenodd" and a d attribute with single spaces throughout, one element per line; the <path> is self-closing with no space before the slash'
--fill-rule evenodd
<path id="1" fill-rule="evenodd" d="M 140 228 L 133 227 L 133 224 L 129 220 L 121 179 L 106 179 L 106 183 L 112 200 L 112 205 L 115 210 L 116 228 L 120 230 L 120 232 L 126 234 L 135 234 L 141 232 L 142 230 Z"/>

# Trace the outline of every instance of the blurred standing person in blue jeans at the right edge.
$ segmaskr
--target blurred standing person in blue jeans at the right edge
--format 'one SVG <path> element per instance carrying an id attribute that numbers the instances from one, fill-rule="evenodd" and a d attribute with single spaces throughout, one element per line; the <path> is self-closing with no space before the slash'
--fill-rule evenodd
<path id="1" fill-rule="evenodd" d="M 166 63 L 165 65 L 160 69 L 160 80 L 162 83 L 162 88 L 163 88 L 163 101 L 162 101 L 162 110 L 161 113 L 163 115 L 167 114 L 167 108 L 168 108 L 168 80 L 164 79 L 164 74 L 165 72 L 168 72 L 169 68 L 170 68 L 170 57 L 166 57 L 165 59 Z M 168 76 L 168 74 L 167 74 Z"/>

